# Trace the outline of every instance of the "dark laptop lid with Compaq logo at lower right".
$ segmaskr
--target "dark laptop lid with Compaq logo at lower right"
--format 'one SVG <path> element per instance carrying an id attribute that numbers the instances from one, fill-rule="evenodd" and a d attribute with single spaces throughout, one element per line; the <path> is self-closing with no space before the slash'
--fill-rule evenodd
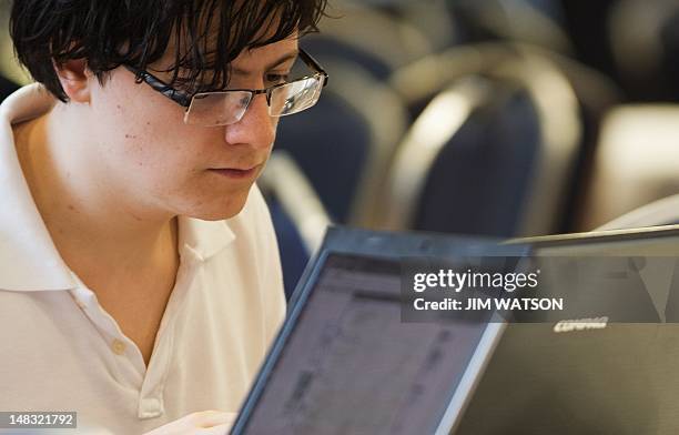
<path id="1" fill-rule="evenodd" d="M 508 324 L 455 433 L 678 433 L 679 226 L 517 242 L 543 259 L 632 261 L 648 297 L 630 322 Z"/>

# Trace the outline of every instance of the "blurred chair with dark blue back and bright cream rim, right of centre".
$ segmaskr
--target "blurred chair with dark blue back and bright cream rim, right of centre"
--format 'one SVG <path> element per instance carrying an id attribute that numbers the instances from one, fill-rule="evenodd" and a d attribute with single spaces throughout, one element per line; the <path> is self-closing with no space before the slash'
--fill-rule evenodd
<path id="1" fill-rule="evenodd" d="M 393 79 L 406 101 L 454 84 L 428 103 L 398 148 L 384 225 L 498 236 L 554 232 L 579 151 L 572 88 L 550 61 L 529 52 L 517 58 L 497 44 L 454 50 Z M 418 85 L 405 87 L 416 75 L 424 78 Z"/>

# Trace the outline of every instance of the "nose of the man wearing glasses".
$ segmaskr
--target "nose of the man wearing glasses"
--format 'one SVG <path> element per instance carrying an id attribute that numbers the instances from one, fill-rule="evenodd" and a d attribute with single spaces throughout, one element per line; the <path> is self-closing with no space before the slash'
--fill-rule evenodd
<path id="1" fill-rule="evenodd" d="M 254 95 L 243 118 L 224 127 L 224 139 L 229 144 L 247 144 L 253 148 L 270 148 L 276 136 L 277 118 L 268 115 L 266 95 Z"/>

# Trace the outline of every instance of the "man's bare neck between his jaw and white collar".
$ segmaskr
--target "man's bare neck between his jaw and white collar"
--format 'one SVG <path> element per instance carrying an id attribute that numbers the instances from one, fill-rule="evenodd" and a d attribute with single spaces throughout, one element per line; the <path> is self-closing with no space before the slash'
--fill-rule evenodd
<path id="1" fill-rule="evenodd" d="M 108 180 L 105 164 L 83 140 L 80 109 L 58 103 L 14 129 L 33 200 L 67 264 L 94 289 L 98 276 L 176 271 L 176 219 L 134 201 Z M 101 160 L 101 159 L 99 159 Z M 90 282 L 88 282 L 90 281 Z M 103 284 L 99 284 L 103 285 Z"/>

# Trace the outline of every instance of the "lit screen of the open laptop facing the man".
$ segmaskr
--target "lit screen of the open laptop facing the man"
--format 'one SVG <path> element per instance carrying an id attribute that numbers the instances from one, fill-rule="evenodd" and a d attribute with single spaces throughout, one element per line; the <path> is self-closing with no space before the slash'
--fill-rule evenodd
<path id="1" fill-rule="evenodd" d="M 402 322 L 397 260 L 335 253 L 315 276 L 244 432 L 447 432 L 488 324 Z"/>

